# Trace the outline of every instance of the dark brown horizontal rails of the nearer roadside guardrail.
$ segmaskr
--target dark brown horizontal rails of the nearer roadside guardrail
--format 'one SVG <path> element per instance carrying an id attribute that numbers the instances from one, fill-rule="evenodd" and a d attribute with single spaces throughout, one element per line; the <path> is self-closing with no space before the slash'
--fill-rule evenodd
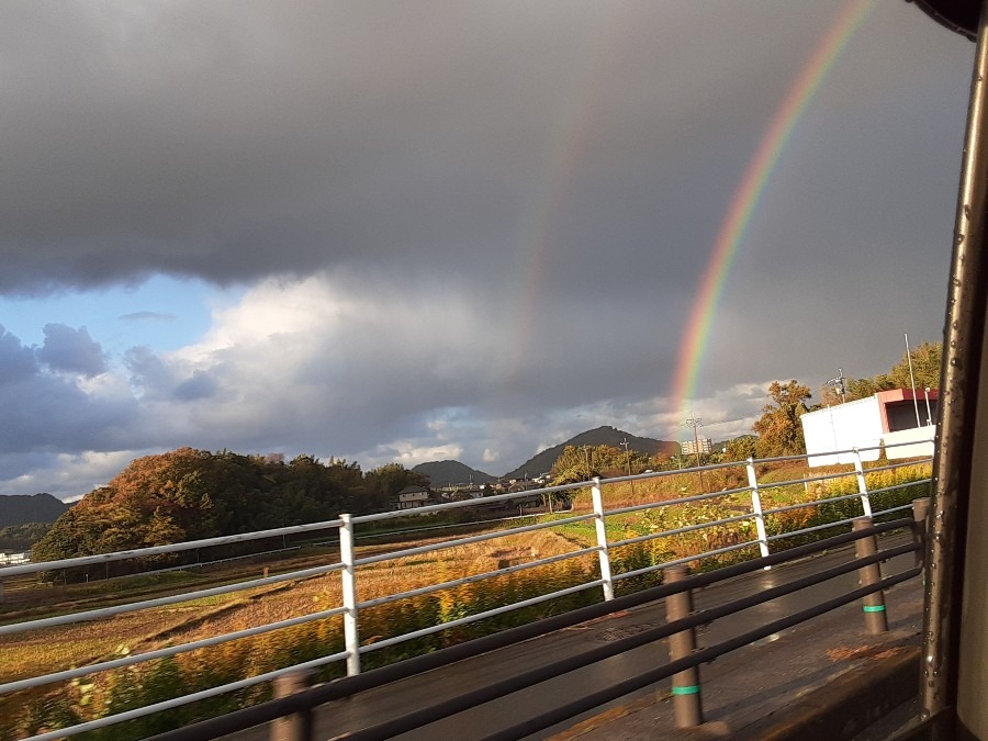
<path id="1" fill-rule="evenodd" d="M 862 518 L 863 520 L 867 518 Z M 385 739 L 400 733 L 415 730 L 428 723 L 441 720 L 457 712 L 475 707 L 476 705 L 489 703 L 491 700 L 504 697 L 514 692 L 526 689 L 541 682 L 546 682 L 562 674 L 575 671 L 592 663 L 616 656 L 632 649 L 645 645 L 653 641 L 670 638 L 684 631 L 708 624 L 715 619 L 723 618 L 734 613 L 748 609 L 750 607 L 761 605 L 772 599 L 793 594 L 806 587 L 820 584 L 824 581 L 861 571 L 868 566 L 874 566 L 882 561 L 895 558 L 910 552 L 921 552 L 923 548 L 922 537 L 923 526 L 918 525 L 916 519 L 898 519 L 889 523 L 879 524 L 877 526 L 867 524 L 864 527 L 855 528 L 850 534 L 844 534 L 821 540 L 815 543 L 808 543 L 793 548 L 781 553 L 775 553 L 765 558 L 726 566 L 714 572 L 700 573 L 674 581 L 662 586 L 652 587 L 635 594 L 617 597 L 608 603 L 600 603 L 590 607 L 580 608 L 570 613 L 546 618 L 537 622 L 512 628 L 493 636 L 480 638 L 468 643 L 442 649 L 435 653 L 408 659 L 406 661 L 373 670 L 358 676 L 350 676 L 343 680 L 332 682 L 326 685 L 305 689 L 297 694 L 282 697 L 262 705 L 247 708 L 237 712 L 229 714 L 222 718 L 202 721 L 183 729 L 161 733 L 153 737 L 154 741 L 206 741 L 223 734 L 232 733 L 246 728 L 251 728 L 265 722 L 270 722 L 280 718 L 292 715 L 307 715 L 319 705 L 353 696 L 358 693 L 380 687 L 384 684 L 396 682 L 416 676 L 424 672 L 433 671 L 438 667 L 449 665 L 457 661 L 478 656 L 482 653 L 504 648 L 525 640 L 544 636 L 549 632 L 560 630 L 562 628 L 572 627 L 590 620 L 599 619 L 607 615 L 627 610 L 649 602 L 664 599 L 674 595 L 689 593 L 704 586 L 709 586 L 718 582 L 733 579 L 736 576 L 751 573 L 761 569 L 770 568 L 788 561 L 819 553 L 821 551 L 839 548 L 849 542 L 861 541 L 864 539 L 874 539 L 875 536 L 890 530 L 909 528 L 917 537 L 913 542 L 897 548 L 890 548 L 884 551 L 873 552 L 869 555 L 860 557 L 846 563 L 838 564 L 830 569 L 821 570 L 815 574 L 793 580 L 785 584 L 763 590 L 753 595 L 748 595 L 739 599 L 710 607 L 704 610 L 693 613 L 688 617 L 670 620 L 663 626 L 650 628 L 632 636 L 621 638 L 604 645 L 595 647 L 584 651 L 577 655 L 568 656 L 551 663 L 543 664 L 535 670 L 520 672 L 514 676 L 491 683 L 484 687 L 480 687 L 470 692 L 460 694 L 453 699 L 437 703 L 436 705 L 420 708 L 412 712 L 405 714 L 398 718 L 379 722 L 367 727 L 360 731 L 353 731 L 347 734 L 350 741 L 370 741 L 372 739 Z M 628 693 L 647 687 L 660 680 L 667 678 L 678 672 L 696 667 L 699 664 L 712 661 L 717 656 L 723 655 L 730 651 L 748 645 L 756 640 L 771 636 L 773 633 L 790 628 L 799 622 L 804 622 L 812 617 L 817 617 L 832 609 L 837 609 L 857 599 L 865 598 L 869 595 L 880 593 L 883 590 L 894 586 L 895 584 L 913 579 L 922 571 L 917 565 L 905 572 L 880 579 L 874 583 L 866 584 L 861 588 L 853 590 L 844 595 L 826 600 L 810 608 L 800 610 L 794 615 L 781 618 L 761 626 L 757 629 L 748 631 L 737 636 L 728 641 L 710 645 L 703 650 L 693 651 L 689 655 L 673 658 L 666 664 L 654 667 L 643 674 L 629 678 L 627 681 L 610 685 L 604 691 L 596 692 L 590 696 L 582 697 L 579 700 L 568 703 L 561 707 L 553 708 L 537 717 L 528 718 L 507 729 L 497 731 L 485 737 L 485 741 L 507 741 L 520 739 L 542 729 L 549 728 L 558 722 L 572 718 L 588 709 L 617 699 Z M 866 613 L 867 615 L 867 613 Z M 677 698 L 686 697 L 692 699 L 691 695 L 698 693 L 686 693 L 678 695 Z M 297 728 L 311 729 L 311 718 L 303 719 Z M 291 739 L 307 739 L 308 736 L 292 736 Z"/>

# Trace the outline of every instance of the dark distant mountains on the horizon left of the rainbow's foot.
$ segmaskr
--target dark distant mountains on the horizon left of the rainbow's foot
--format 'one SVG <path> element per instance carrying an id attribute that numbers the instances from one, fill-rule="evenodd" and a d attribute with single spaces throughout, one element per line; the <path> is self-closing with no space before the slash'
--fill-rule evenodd
<path id="1" fill-rule="evenodd" d="M 560 442 L 558 446 L 553 446 L 552 448 L 548 448 L 547 450 L 532 456 L 514 471 L 505 473 L 502 479 L 534 479 L 543 473 L 548 473 L 566 446 L 609 445 L 618 448 L 622 447 L 621 444 L 625 440 L 628 441 L 628 448 L 630 450 L 636 450 L 647 456 L 654 456 L 658 452 L 674 456 L 680 451 L 678 442 L 655 440 L 650 437 L 638 437 L 610 426 L 597 427 L 596 429 L 588 429 L 585 433 L 580 433 L 580 435 L 571 437 L 565 442 Z M 465 484 L 471 481 L 474 484 L 486 484 L 497 481 L 497 476 L 492 476 L 490 473 L 478 471 L 459 461 L 430 461 L 427 463 L 419 463 L 412 470 L 415 473 L 422 473 L 423 475 L 428 476 L 433 486 L 445 486 L 448 483 Z"/>

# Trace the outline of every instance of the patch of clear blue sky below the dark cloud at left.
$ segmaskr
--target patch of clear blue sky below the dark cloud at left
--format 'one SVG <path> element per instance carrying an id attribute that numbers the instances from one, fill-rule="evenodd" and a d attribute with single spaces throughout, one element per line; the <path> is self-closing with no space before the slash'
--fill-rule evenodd
<path id="1" fill-rule="evenodd" d="M 135 346 L 169 352 L 199 340 L 213 311 L 235 303 L 242 287 L 154 276 L 135 285 L 65 291 L 42 297 L 0 296 L 0 325 L 21 343 L 40 346 L 46 324 L 86 327 L 110 356 Z"/>

